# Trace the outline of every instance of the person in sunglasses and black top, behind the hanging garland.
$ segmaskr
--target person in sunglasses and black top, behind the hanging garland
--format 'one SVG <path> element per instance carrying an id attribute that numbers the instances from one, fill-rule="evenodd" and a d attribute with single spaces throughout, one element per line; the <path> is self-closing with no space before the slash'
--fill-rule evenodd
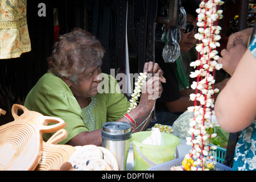
<path id="1" fill-rule="evenodd" d="M 182 1 L 182 5 L 187 13 L 187 24 L 180 29 L 181 39 L 179 42 L 181 54 L 175 63 L 165 63 L 162 57 L 162 50 L 165 43 L 162 41 L 155 42 L 155 58 L 156 63 L 163 69 L 166 83 L 163 84 L 162 96 L 156 100 L 156 122 L 152 122 L 149 127 L 160 123 L 162 125 L 170 125 L 187 110 L 188 106 L 193 106 L 194 101 L 189 100 L 189 94 L 194 93 L 195 90 L 189 88 L 189 80 L 187 75 L 187 67 L 184 67 L 182 53 L 192 50 L 197 39 L 195 34 L 197 32 L 197 13 L 201 1 L 189 0 Z M 165 25 L 168 30 L 168 25 Z M 197 56 L 197 55 L 196 55 Z M 197 59 L 197 57 L 196 57 Z M 189 63 L 188 63 L 189 67 Z M 216 84 L 215 87 L 222 89 L 225 82 Z"/>

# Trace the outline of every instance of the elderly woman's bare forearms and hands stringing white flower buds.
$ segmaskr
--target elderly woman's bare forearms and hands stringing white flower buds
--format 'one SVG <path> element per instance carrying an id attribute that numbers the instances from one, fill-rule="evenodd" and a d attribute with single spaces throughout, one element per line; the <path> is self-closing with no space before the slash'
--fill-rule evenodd
<path id="1" fill-rule="evenodd" d="M 144 73 L 157 73 L 159 76 L 163 75 L 162 69 L 160 69 L 157 63 L 145 63 L 144 64 Z M 136 131 L 143 130 L 144 127 L 148 125 L 150 119 L 150 113 L 152 109 L 154 109 L 155 100 L 156 98 L 160 97 L 163 92 L 163 87 L 161 82 L 166 82 L 162 77 L 154 76 L 150 78 L 145 84 L 142 86 L 142 96 L 139 102 L 139 105 L 135 107 L 135 109 L 130 111 L 131 117 L 138 123 L 138 126 L 141 125 Z M 151 96 L 151 97 L 150 97 Z M 144 122 L 144 121 L 147 122 Z M 125 118 L 122 117 L 118 119 L 118 121 L 125 121 L 130 124 L 130 122 Z M 142 123 L 144 122 L 144 123 Z M 77 134 L 73 137 L 67 144 L 72 146 L 84 146 L 85 144 L 94 144 L 96 146 L 101 146 L 102 139 L 101 139 L 101 129 L 94 130 L 94 131 L 84 131 L 80 134 Z"/>

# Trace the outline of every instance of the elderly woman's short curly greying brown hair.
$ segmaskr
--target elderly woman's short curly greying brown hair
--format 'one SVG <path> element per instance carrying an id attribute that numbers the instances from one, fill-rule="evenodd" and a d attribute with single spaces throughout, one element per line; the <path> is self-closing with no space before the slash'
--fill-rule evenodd
<path id="1" fill-rule="evenodd" d="M 80 73 L 91 65 L 98 65 L 105 49 L 90 32 L 75 28 L 72 32 L 59 36 L 48 57 L 48 72 L 65 77 L 77 85 Z"/>

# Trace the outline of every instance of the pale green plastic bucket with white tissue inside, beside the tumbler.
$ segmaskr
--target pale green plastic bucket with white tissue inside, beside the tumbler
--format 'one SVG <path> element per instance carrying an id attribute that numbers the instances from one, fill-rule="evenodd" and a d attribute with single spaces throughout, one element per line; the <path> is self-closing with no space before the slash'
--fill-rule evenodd
<path id="1" fill-rule="evenodd" d="M 141 131 L 131 135 L 135 171 L 146 171 L 149 167 L 175 159 L 176 146 L 180 143 L 179 138 L 162 133 L 164 145 L 143 144 L 143 140 L 150 135 L 151 131 Z"/>

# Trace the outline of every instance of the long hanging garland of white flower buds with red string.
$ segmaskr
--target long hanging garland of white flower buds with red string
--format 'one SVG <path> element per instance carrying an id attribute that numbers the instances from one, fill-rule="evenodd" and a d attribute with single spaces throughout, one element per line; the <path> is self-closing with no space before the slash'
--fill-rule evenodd
<path id="1" fill-rule="evenodd" d="M 188 111 L 194 112 L 193 118 L 190 119 L 187 144 L 192 146 L 189 154 L 185 155 L 184 161 L 193 161 L 191 170 L 207 170 L 210 160 L 210 150 L 215 150 L 216 146 L 210 146 L 210 138 L 216 137 L 216 134 L 210 134 L 213 125 L 211 116 L 213 114 L 214 99 L 213 94 L 218 93 L 218 89 L 214 89 L 214 69 L 220 70 L 221 64 L 217 63 L 219 56 L 216 47 L 220 47 L 218 40 L 221 39 L 221 27 L 218 26 L 217 20 L 222 18 L 222 10 L 218 7 L 224 2 L 221 0 L 202 0 L 199 9 L 196 12 L 199 26 L 199 32 L 195 38 L 200 42 L 196 46 L 199 52 L 198 60 L 191 62 L 191 67 L 196 68 L 195 72 L 191 72 L 190 77 L 197 78 L 191 85 L 195 89 L 195 94 L 190 95 L 190 99 L 195 101 L 195 105 L 188 107 Z M 197 106 L 199 102 L 199 106 Z M 191 159 L 191 160 L 189 160 Z M 194 159 L 194 160 L 192 160 Z M 184 162 L 185 165 L 185 162 Z M 183 165 L 183 166 L 184 166 Z"/>

